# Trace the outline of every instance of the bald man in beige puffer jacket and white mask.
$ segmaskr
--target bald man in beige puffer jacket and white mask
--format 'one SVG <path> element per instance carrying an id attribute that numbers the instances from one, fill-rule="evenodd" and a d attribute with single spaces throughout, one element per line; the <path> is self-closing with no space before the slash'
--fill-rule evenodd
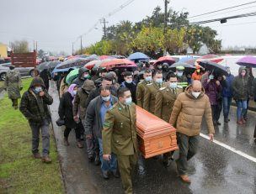
<path id="1" fill-rule="evenodd" d="M 192 85 L 177 97 L 169 121 L 177 128 L 179 141 L 179 160 L 176 160 L 177 169 L 181 180 L 186 183 L 190 183 L 187 174 L 188 160 L 197 152 L 204 114 L 209 137 L 212 141 L 214 127 L 211 118 L 211 103 L 205 95 L 200 81 L 193 81 Z"/>

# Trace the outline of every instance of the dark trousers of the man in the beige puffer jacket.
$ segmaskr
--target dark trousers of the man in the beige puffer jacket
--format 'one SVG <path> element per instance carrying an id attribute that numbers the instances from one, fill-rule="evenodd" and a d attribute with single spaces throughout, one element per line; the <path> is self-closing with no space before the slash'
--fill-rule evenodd
<path id="1" fill-rule="evenodd" d="M 197 152 L 199 144 L 199 135 L 187 136 L 185 134 L 177 134 L 179 141 L 179 160 L 177 160 L 177 169 L 179 175 L 187 175 L 188 160 L 190 160 Z"/>

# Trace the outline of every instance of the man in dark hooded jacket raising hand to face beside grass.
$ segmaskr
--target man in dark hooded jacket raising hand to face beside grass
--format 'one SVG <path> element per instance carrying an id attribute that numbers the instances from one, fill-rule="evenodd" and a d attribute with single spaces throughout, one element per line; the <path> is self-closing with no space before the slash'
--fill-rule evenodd
<path id="1" fill-rule="evenodd" d="M 29 126 L 32 130 L 32 153 L 36 159 L 45 163 L 51 163 L 50 153 L 50 134 L 49 123 L 51 122 L 51 113 L 47 105 L 53 102 L 52 97 L 45 89 L 44 81 L 40 77 L 35 77 L 30 84 L 27 92 L 24 92 L 19 110 L 29 120 Z M 40 129 L 42 134 L 42 157 L 39 153 Z"/>

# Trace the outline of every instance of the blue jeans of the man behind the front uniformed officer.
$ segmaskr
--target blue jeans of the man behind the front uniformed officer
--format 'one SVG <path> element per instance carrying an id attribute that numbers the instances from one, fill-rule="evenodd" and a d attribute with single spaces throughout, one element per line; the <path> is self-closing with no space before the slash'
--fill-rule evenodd
<path id="1" fill-rule="evenodd" d="M 103 172 L 107 172 L 111 170 L 112 172 L 116 172 L 117 170 L 117 158 L 115 154 L 111 154 L 111 160 L 107 161 L 103 159 L 103 144 L 102 144 L 102 139 L 98 139 L 99 141 L 99 158 L 101 161 L 101 170 Z"/>

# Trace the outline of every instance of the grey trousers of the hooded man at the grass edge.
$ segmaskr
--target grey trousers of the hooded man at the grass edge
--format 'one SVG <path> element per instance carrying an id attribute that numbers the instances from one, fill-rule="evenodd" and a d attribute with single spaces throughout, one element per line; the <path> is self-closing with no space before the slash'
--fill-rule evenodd
<path id="1" fill-rule="evenodd" d="M 49 122 L 44 119 L 40 124 L 29 123 L 31 131 L 32 131 L 32 153 L 35 155 L 39 152 L 39 136 L 40 129 L 42 134 L 42 145 L 43 151 L 42 155 L 46 156 L 50 153 L 50 134 L 49 134 Z"/>

